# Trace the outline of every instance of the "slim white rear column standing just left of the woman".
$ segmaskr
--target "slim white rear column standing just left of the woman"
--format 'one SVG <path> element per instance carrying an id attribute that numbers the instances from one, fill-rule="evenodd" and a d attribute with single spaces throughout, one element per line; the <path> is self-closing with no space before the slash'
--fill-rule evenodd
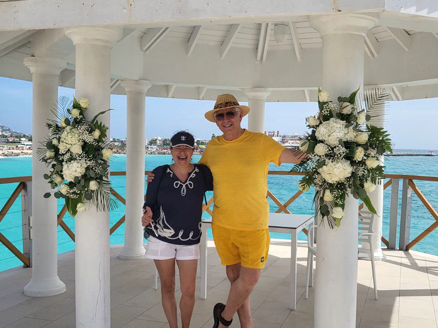
<path id="1" fill-rule="evenodd" d="M 150 81 L 124 80 L 126 91 L 126 217 L 121 259 L 140 259 L 143 246 L 142 206 L 145 192 L 145 97 Z"/>

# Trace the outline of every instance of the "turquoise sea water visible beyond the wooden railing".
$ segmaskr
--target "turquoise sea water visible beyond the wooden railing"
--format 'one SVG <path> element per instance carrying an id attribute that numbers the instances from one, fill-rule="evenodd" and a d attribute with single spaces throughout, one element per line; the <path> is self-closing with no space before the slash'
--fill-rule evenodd
<path id="1" fill-rule="evenodd" d="M 400 150 L 408 151 L 408 150 Z M 418 152 L 418 151 L 415 151 Z M 438 152 L 435 152 L 438 153 Z M 171 156 L 168 155 L 146 155 L 145 169 L 150 170 L 158 165 L 170 164 Z M 194 156 L 197 161 L 199 156 Z M 438 156 L 437 157 L 389 157 L 385 162 L 387 173 L 392 174 L 415 174 L 438 176 Z M 15 157 L 15 158 L 0 158 L 0 177 L 24 176 L 32 174 L 31 157 Z M 289 170 L 292 167 L 290 164 L 284 164 L 277 167 L 270 165 L 270 170 Z M 112 171 L 126 170 L 126 156 L 119 155 L 111 162 Z M 113 188 L 125 196 L 126 186 L 124 176 L 113 176 L 111 178 Z M 294 193 L 298 191 L 297 182 L 298 176 L 282 176 L 269 175 L 268 188 L 269 190 L 283 203 L 286 202 Z M 421 192 L 426 196 L 429 202 L 435 208 L 438 208 L 438 182 L 416 181 Z M 17 184 L 0 185 L 0 208 L 6 203 Z M 401 186 L 399 191 L 399 203 L 401 203 Z M 146 186 L 145 186 L 146 188 Z M 312 207 L 314 193 L 306 192 L 299 196 L 290 206 L 289 210 L 296 214 L 313 214 Z M 208 196 L 208 195 L 207 195 Z M 210 195 L 211 196 L 211 195 Z M 383 234 L 388 238 L 389 232 L 389 214 L 390 214 L 390 196 L 391 187 L 385 191 L 384 202 L 384 224 Z M 42 197 L 42 195 L 41 195 Z M 209 198 L 209 197 L 208 197 Z M 58 203 L 59 210 L 63 206 L 62 201 Z M 277 210 L 277 206 L 270 200 L 271 212 Z M 111 212 L 111 225 L 116 223 L 125 212 L 125 208 L 119 207 Z M 398 214 L 400 215 L 400 205 Z M 208 214 L 205 214 L 208 216 Z M 74 220 L 68 216 L 64 217 L 66 224 L 74 232 Z M 420 234 L 424 229 L 430 226 L 435 220 L 426 210 L 424 205 L 416 195 L 413 197 L 412 203 L 412 224 L 410 227 L 411 240 Z M 14 202 L 8 214 L 0 222 L 0 233 L 4 234 L 18 249 L 22 250 L 22 231 L 21 231 L 21 199 Z M 211 237 L 211 233 L 209 233 Z M 271 233 L 271 237 L 275 238 L 290 238 L 290 235 L 283 233 Z M 299 238 L 305 240 L 306 236 L 300 232 Z M 123 244 L 124 241 L 124 224 L 122 224 L 112 235 L 111 244 Z M 398 245 L 398 243 L 397 243 Z M 74 243 L 70 237 L 64 232 L 61 227 L 58 227 L 58 253 L 67 252 L 74 249 Z M 431 232 L 421 243 L 414 247 L 414 250 L 438 255 L 438 229 Z M 0 244 L 0 271 L 10 269 L 11 267 L 21 265 L 18 260 L 3 244 Z"/>

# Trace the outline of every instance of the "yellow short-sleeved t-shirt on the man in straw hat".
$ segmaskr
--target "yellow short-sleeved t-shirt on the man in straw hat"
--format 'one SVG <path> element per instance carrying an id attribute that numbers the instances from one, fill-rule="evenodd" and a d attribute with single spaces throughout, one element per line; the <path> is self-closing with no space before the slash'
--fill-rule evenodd
<path id="1" fill-rule="evenodd" d="M 244 130 L 232 141 L 212 139 L 200 164 L 213 173 L 213 223 L 234 230 L 268 228 L 269 162 L 280 166 L 285 147 L 263 133 Z"/>

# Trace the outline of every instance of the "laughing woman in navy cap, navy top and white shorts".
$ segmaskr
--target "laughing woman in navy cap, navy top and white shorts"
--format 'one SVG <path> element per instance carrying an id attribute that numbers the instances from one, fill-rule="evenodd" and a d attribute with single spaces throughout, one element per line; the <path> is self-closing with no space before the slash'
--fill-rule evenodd
<path id="1" fill-rule="evenodd" d="M 142 224 L 149 233 L 146 258 L 153 259 L 161 283 L 161 300 L 170 328 L 177 327 L 175 261 L 181 283 L 181 321 L 188 327 L 195 305 L 195 281 L 201 240 L 202 201 L 213 190 L 205 165 L 191 164 L 195 138 L 178 132 L 171 138 L 175 163 L 154 169 L 148 185 Z"/>

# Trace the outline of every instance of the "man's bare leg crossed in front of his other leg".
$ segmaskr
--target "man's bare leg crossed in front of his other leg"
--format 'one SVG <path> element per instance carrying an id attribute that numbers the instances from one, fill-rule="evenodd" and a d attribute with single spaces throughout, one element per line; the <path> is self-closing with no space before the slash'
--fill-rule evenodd
<path id="1" fill-rule="evenodd" d="M 232 283 L 230 293 L 228 294 L 227 305 L 221 313 L 225 320 L 231 320 L 237 310 L 243 306 L 245 302 L 248 302 L 248 308 L 250 307 L 249 297 L 259 280 L 260 271 L 260 269 L 250 269 L 240 266 L 239 277 Z M 245 311 L 248 311 L 248 308 L 245 308 Z M 251 317 L 251 309 L 249 311 Z M 219 324 L 219 327 L 225 328 L 222 323 Z M 245 328 L 247 327 L 245 326 Z"/>

